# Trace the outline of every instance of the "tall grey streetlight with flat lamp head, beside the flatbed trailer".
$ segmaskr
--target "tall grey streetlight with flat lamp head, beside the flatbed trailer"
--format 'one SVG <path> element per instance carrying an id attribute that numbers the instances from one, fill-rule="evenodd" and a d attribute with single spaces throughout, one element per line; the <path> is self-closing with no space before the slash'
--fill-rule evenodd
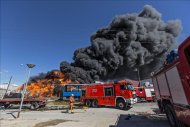
<path id="1" fill-rule="evenodd" d="M 29 81 L 31 69 L 32 69 L 33 67 L 35 67 L 34 64 L 26 64 L 26 65 L 27 65 L 27 67 L 28 67 L 28 75 L 27 75 L 26 83 L 25 83 L 25 85 L 23 85 L 22 98 L 21 98 L 20 108 L 19 108 L 19 111 L 18 111 L 18 114 L 17 114 L 17 118 L 20 117 L 20 112 L 21 112 L 21 110 L 22 110 L 22 105 L 23 105 L 23 100 L 24 100 L 24 94 L 25 94 L 25 92 L 26 92 L 26 88 L 27 88 L 27 85 L 28 85 L 28 81 Z"/>

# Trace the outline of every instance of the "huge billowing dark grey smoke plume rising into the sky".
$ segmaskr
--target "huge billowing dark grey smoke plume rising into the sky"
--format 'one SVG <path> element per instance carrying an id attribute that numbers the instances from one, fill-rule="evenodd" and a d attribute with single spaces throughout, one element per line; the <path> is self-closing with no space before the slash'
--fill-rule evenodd
<path id="1" fill-rule="evenodd" d="M 164 22 L 161 14 L 145 5 L 139 14 L 116 16 L 108 27 L 91 36 L 91 46 L 77 49 L 74 62 L 61 62 L 60 70 L 80 83 L 95 80 L 141 79 L 161 67 L 181 32 L 179 20 Z"/>

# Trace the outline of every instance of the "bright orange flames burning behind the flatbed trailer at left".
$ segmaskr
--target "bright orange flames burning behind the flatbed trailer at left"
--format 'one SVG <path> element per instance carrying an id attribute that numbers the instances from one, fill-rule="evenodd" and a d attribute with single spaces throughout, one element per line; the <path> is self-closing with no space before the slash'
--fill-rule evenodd
<path id="1" fill-rule="evenodd" d="M 31 82 L 27 86 L 28 96 L 30 97 L 52 97 L 54 96 L 54 88 L 64 86 L 71 83 L 70 79 L 66 79 L 64 74 L 60 71 L 52 71 L 44 79 Z M 23 85 L 19 86 L 17 90 L 22 90 Z M 59 91 L 60 92 L 60 91 Z"/>

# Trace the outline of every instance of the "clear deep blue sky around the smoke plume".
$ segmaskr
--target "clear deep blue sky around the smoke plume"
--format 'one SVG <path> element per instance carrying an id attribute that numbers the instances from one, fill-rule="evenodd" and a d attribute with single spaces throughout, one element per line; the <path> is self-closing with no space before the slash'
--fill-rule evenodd
<path id="1" fill-rule="evenodd" d="M 31 75 L 59 69 L 61 61 L 71 62 L 74 50 L 90 45 L 91 34 L 114 16 L 139 13 L 146 4 L 162 13 L 164 21 L 181 20 L 178 43 L 190 35 L 188 0 L 1 0 L 1 83 L 10 76 L 12 83 L 24 83 L 27 68 L 21 64 L 36 64 Z"/>

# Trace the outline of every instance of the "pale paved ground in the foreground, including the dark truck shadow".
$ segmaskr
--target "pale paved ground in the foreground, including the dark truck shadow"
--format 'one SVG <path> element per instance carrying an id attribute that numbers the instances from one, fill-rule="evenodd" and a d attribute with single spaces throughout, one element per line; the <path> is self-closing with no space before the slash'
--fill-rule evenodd
<path id="1" fill-rule="evenodd" d="M 7 114 L 14 110 L 6 110 L 1 111 L 0 127 L 169 127 L 165 115 L 155 113 L 157 110 L 155 103 L 136 104 L 128 111 L 105 107 L 76 109 L 74 114 L 66 110 L 28 110 L 18 119 Z"/>

